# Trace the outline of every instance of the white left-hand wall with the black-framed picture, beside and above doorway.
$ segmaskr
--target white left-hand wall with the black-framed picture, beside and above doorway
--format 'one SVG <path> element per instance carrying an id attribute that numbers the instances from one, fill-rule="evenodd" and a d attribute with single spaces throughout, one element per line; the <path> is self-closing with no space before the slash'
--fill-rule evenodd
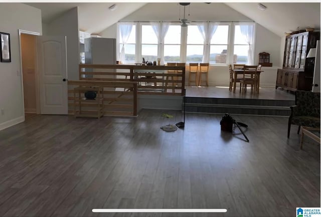
<path id="1" fill-rule="evenodd" d="M 0 31 L 10 34 L 12 61 L 0 62 L 1 130 L 25 120 L 18 30 L 42 34 L 41 11 L 21 3 L 0 3 L 0 21 Z"/>

